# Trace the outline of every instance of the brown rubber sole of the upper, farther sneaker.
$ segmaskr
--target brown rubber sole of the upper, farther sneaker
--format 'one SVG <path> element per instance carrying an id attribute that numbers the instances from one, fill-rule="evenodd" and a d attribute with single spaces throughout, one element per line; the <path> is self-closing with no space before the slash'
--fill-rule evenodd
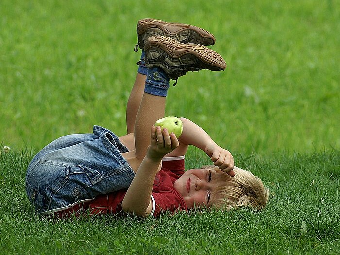
<path id="1" fill-rule="evenodd" d="M 169 34 L 171 38 L 176 39 L 179 39 L 178 34 L 181 33 L 182 31 L 191 30 L 199 34 L 199 36 L 201 36 L 202 38 L 210 39 L 210 43 L 206 45 L 214 45 L 216 41 L 213 34 L 202 28 L 182 23 L 170 23 L 151 18 L 145 18 L 138 21 L 137 35 L 143 34 L 149 28 L 158 28 L 165 32 L 166 34 Z"/>

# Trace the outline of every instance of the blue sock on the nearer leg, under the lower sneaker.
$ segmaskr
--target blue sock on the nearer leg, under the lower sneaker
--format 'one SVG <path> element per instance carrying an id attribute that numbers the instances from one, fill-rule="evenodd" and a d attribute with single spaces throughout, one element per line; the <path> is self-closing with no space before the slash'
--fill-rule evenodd
<path id="1" fill-rule="evenodd" d="M 161 68 L 149 68 L 146 76 L 144 92 L 155 96 L 166 97 L 170 78 Z"/>

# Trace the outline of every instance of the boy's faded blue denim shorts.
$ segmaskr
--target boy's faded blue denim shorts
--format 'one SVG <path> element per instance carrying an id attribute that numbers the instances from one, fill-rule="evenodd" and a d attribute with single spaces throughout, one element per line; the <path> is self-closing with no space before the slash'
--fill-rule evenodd
<path id="1" fill-rule="evenodd" d="M 73 134 L 51 142 L 26 172 L 26 193 L 43 213 L 130 186 L 135 173 L 121 155 L 128 149 L 110 130 Z"/>

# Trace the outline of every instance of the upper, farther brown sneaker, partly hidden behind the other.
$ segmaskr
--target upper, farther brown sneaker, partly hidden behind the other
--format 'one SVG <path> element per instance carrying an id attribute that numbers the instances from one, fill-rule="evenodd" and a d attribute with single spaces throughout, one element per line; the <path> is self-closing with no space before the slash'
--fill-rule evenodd
<path id="1" fill-rule="evenodd" d="M 210 32 L 187 24 L 168 23 L 162 20 L 145 18 L 137 24 L 138 44 L 135 51 L 144 49 L 146 40 L 154 35 L 161 35 L 176 39 L 181 43 L 196 43 L 201 45 L 214 45 L 215 37 Z"/>

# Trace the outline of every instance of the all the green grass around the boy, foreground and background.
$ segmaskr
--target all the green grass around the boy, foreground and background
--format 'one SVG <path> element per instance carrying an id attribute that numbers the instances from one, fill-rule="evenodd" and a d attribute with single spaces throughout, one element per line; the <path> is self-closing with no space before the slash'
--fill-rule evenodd
<path id="1" fill-rule="evenodd" d="M 0 155 L 0 254 L 339 254 L 339 6 L 1 0 L 0 144 L 12 150 Z M 34 215 L 24 192 L 34 153 L 94 124 L 126 132 L 136 23 L 145 17 L 215 35 L 211 48 L 227 69 L 181 77 L 166 114 L 197 122 L 239 167 L 260 176 L 272 192 L 264 212 L 142 221 Z M 195 149 L 187 158 L 187 168 L 208 163 Z"/>

